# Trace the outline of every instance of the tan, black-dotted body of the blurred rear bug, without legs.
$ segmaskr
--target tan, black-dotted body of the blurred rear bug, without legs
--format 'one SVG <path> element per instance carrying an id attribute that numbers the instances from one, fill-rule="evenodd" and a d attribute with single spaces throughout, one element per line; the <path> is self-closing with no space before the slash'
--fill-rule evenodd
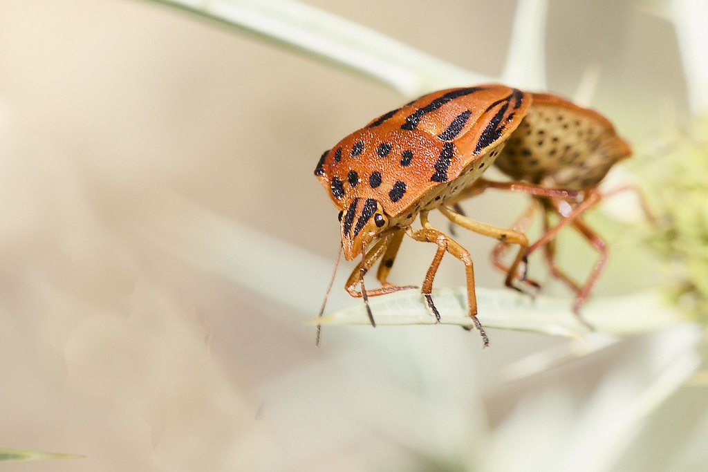
<path id="1" fill-rule="evenodd" d="M 535 93 L 496 166 L 516 180 L 579 190 L 598 185 L 617 161 L 631 153 L 602 115 Z"/>

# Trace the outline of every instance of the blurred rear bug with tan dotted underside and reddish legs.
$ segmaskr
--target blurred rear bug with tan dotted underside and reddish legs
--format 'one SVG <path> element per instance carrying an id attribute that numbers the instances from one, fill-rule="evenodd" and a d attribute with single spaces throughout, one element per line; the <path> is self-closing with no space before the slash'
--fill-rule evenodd
<path id="1" fill-rule="evenodd" d="M 632 154 L 632 149 L 617 135 L 612 123 L 594 110 L 581 108 L 547 93 L 532 93 L 531 96 L 531 107 L 518 129 L 507 140 L 495 165 L 515 181 L 543 188 L 577 191 L 573 195 L 576 198 L 572 200 L 535 197 L 513 228 L 525 231 L 537 210 L 543 209 L 544 235 L 527 248 L 525 255 L 544 248 L 551 275 L 575 292 L 573 312 L 578 314 L 607 262 L 605 241 L 583 221 L 582 215 L 600 201 L 601 195 L 597 189 L 600 181 L 615 163 Z M 479 188 L 487 185 L 489 183 L 477 183 Z M 551 214 L 561 217 L 555 226 L 550 224 Z M 561 228 L 569 225 L 600 254 L 582 285 L 574 282 L 554 262 L 554 237 Z M 492 253 L 492 260 L 496 267 L 508 272 L 509 284 L 517 276 L 515 267 L 506 267 L 501 263 L 501 255 L 507 249 L 506 243 L 498 244 Z M 523 280 L 525 277 L 521 278 Z M 536 285 L 535 282 L 527 282 Z"/>

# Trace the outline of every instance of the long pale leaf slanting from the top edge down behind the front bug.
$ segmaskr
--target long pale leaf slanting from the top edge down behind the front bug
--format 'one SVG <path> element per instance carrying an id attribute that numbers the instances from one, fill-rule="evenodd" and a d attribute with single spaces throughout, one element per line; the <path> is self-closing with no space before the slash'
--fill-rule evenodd
<path id="1" fill-rule="evenodd" d="M 436 59 L 332 13 L 292 0 L 155 0 L 337 64 L 405 96 L 494 79 Z"/>

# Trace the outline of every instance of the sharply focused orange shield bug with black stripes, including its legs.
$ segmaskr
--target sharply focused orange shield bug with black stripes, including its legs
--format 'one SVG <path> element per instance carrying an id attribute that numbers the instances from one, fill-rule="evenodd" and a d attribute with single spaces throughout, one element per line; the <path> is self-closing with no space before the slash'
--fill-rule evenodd
<path id="1" fill-rule="evenodd" d="M 484 345 L 489 344 L 476 317 L 472 258 L 430 224 L 428 212 L 440 209 L 467 229 L 518 244 L 515 270 L 528 246 L 523 234 L 474 221 L 444 205 L 491 166 L 531 102 L 530 93 L 498 84 L 429 93 L 372 120 L 322 154 L 314 173 L 339 209 L 341 250 L 346 260 L 362 258 L 346 283 L 349 294 L 366 301 L 367 296 L 409 288 L 387 282 L 404 234 L 435 243 L 438 251 L 421 287 L 428 306 L 439 319 L 430 291 L 442 256 L 450 253 L 464 264 L 469 316 Z M 422 229 L 411 228 L 416 217 Z M 379 258 L 381 287 L 367 291 L 363 276 Z M 369 316 L 375 324 L 370 311 Z"/>

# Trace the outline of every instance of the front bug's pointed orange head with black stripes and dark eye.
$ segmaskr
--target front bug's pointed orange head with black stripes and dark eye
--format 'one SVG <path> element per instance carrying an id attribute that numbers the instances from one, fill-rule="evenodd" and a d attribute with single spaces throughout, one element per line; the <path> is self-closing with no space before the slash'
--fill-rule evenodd
<path id="1" fill-rule="evenodd" d="M 369 243 L 389 229 L 389 217 L 373 198 L 355 198 L 339 212 L 342 230 L 342 250 L 346 260 L 352 260 Z"/>

